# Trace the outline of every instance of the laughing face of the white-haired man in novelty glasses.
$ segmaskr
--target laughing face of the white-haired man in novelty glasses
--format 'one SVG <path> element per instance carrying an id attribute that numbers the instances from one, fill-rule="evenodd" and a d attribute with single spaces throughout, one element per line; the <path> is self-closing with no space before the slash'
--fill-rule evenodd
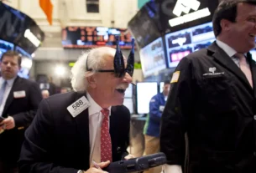
<path id="1" fill-rule="evenodd" d="M 102 69 L 114 69 L 113 57 L 115 49 L 110 49 L 109 52 L 104 53 Z M 125 67 L 127 65 L 124 59 Z M 132 82 L 132 77 L 126 73 L 123 78 L 117 78 L 112 72 L 96 73 L 87 78 L 88 92 L 91 97 L 102 108 L 107 108 L 112 105 L 123 104 L 124 93 L 128 88 L 128 84 Z"/>

